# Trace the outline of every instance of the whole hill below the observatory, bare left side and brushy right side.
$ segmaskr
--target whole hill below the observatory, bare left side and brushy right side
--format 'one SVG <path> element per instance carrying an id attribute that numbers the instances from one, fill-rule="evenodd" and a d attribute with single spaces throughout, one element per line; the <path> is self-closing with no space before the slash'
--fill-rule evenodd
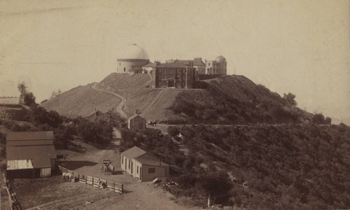
<path id="1" fill-rule="evenodd" d="M 256 85 L 244 76 L 221 76 L 202 80 L 201 89 L 150 88 L 145 73 L 111 73 L 92 85 L 73 88 L 43 102 L 47 110 L 63 116 L 90 116 L 94 108 L 105 113 L 126 99 L 123 111 L 132 116 L 136 109 L 147 120 L 171 124 L 302 123 L 312 114 L 290 106 L 276 92 Z M 103 90 L 103 91 L 99 91 Z M 107 92 L 106 92 L 107 91 Z"/>

